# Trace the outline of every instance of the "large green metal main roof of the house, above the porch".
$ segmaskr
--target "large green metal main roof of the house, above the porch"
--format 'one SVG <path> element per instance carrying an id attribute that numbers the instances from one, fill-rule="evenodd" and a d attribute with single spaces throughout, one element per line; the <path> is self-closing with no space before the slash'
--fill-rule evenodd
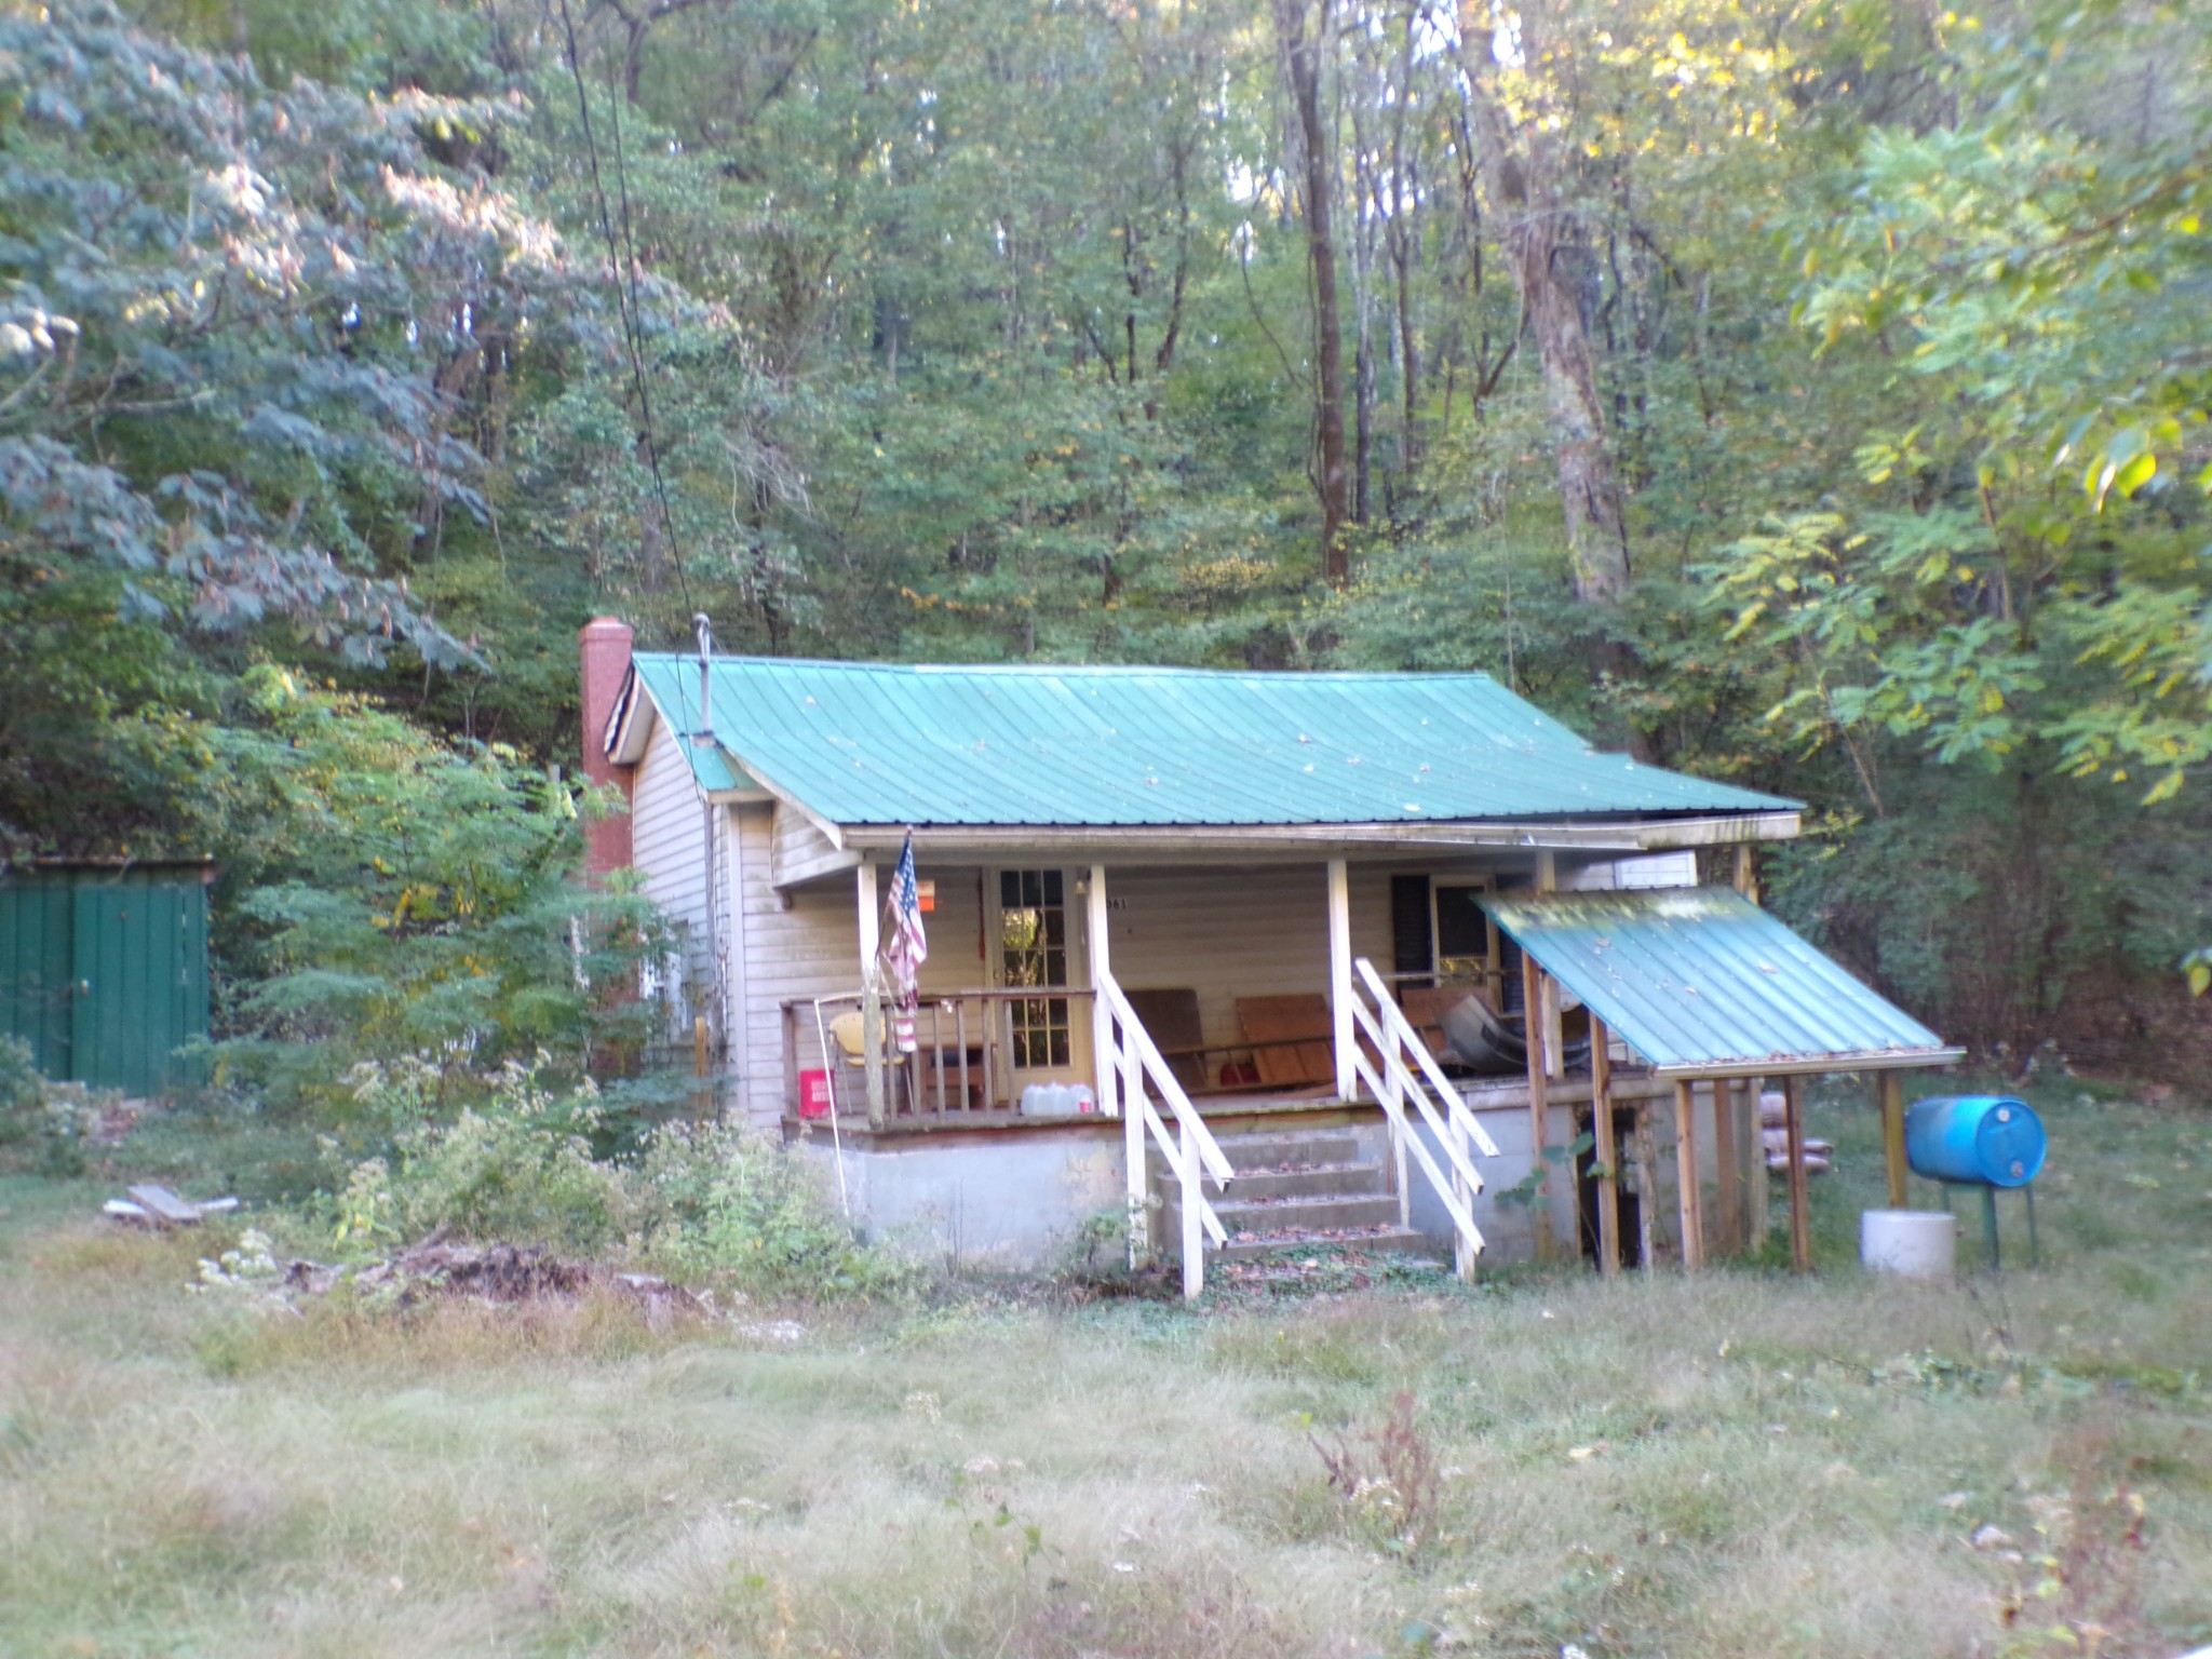
<path id="1" fill-rule="evenodd" d="M 639 653 L 677 732 L 699 661 Z M 841 825 L 1327 825 L 1792 812 L 1599 754 L 1489 675 L 891 668 L 717 657 L 717 748 Z M 728 759 L 723 759 L 728 757 Z"/>

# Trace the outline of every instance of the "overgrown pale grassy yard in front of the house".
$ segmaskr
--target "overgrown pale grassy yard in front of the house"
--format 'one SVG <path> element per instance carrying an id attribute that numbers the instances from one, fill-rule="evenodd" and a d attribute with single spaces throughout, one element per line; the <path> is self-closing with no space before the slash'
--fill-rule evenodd
<path id="1" fill-rule="evenodd" d="M 1812 1281 L 1199 1312 L 971 1287 L 675 1329 L 599 1301 L 268 1316 L 184 1294 L 221 1234 L 0 1183 L 0 1652 L 2212 1641 L 2212 1115 L 2037 1095 L 2046 1265 L 1911 1287 L 1854 1261 L 1860 1099 L 1814 1113 L 1840 1172 Z"/>

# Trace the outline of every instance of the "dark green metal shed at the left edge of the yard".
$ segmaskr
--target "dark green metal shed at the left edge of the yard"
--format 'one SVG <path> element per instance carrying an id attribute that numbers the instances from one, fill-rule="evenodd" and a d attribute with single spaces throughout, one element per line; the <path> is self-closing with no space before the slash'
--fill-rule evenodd
<path id="1" fill-rule="evenodd" d="M 55 1082 L 157 1095 L 208 1035 L 206 863 L 35 863 L 0 874 L 0 1035 Z"/>

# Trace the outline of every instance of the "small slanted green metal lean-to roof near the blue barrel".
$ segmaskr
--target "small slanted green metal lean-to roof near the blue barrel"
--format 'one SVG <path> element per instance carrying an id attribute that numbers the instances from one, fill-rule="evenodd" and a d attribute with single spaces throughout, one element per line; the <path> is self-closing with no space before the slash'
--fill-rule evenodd
<path id="1" fill-rule="evenodd" d="M 1661 1077 L 1960 1057 L 1728 887 L 1502 894 L 1482 907 Z"/>

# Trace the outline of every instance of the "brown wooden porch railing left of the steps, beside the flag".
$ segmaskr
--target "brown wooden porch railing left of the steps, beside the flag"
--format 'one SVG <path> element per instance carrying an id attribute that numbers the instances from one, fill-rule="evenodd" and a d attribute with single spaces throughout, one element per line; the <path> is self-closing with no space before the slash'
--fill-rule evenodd
<path id="1" fill-rule="evenodd" d="M 914 1013 L 916 1051 L 902 1055 L 891 1042 L 891 1015 L 878 1006 L 878 1055 L 883 1064 L 885 1121 L 958 1121 L 978 1113 L 1002 1113 L 1020 1104 L 1024 1073 L 1075 1071 L 1077 1044 L 1091 1035 L 1091 998 L 1084 987 L 989 987 L 925 993 Z M 1057 1013 L 1051 1004 L 1060 1004 Z M 783 1004 L 785 1095 L 799 1102 L 799 1077 L 830 1073 L 832 1108 L 856 1115 L 867 1108 L 867 1044 L 845 1048 L 834 1022 L 865 1013 L 865 991 L 825 998 L 792 998 Z M 1029 1020 L 1020 1018 L 1024 1011 Z M 1053 1033 L 1066 1033 L 1066 1060 L 1055 1062 Z M 1037 1048 L 1046 1053 L 1040 1057 Z M 1102 1102 L 1104 1108 L 1104 1102 Z"/>

